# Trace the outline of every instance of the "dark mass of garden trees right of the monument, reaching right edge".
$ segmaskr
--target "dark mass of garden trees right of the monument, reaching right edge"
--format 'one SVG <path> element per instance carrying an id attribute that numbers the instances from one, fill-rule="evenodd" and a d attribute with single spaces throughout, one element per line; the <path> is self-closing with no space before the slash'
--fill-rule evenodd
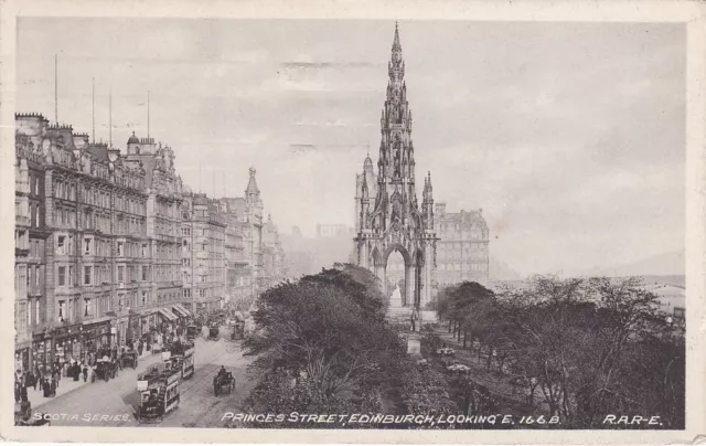
<path id="1" fill-rule="evenodd" d="M 498 295 L 473 283 L 443 289 L 449 332 L 488 369 L 538 386 L 550 415 L 591 427 L 607 413 L 664 414 L 684 425 L 684 338 L 639 278 L 536 276 Z"/>

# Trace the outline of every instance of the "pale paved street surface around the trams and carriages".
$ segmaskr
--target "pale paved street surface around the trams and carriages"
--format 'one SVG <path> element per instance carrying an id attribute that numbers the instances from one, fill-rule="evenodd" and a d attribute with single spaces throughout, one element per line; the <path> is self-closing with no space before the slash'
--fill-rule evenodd
<path id="1" fill-rule="evenodd" d="M 227 333 L 222 328 L 218 341 L 196 338 L 195 373 L 182 383 L 179 408 L 159 426 L 222 427 L 225 425 L 221 422 L 223 413 L 240 407 L 253 385 L 246 378 L 249 359 L 243 358 L 240 342 L 231 341 Z M 149 355 L 140 360 L 137 370 L 124 369 L 115 380 L 88 383 L 51 400 L 33 399 L 44 404 L 33 404 L 32 412 L 66 414 L 60 415 L 63 420 L 52 420 L 53 426 L 138 426 L 132 408 L 139 400 L 137 375 L 158 361 L 161 361 L 160 354 Z M 236 385 L 231 395 L 216 397 L 213 376 L 221 365 L 233 372 Z M 64 382 L 68 380 L 62 380 Z"/>

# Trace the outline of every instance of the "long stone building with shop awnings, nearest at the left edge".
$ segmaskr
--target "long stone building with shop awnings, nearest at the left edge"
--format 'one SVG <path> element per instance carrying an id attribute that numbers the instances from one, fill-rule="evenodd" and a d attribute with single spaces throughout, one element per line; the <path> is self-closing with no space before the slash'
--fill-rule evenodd
<path id="1" fill-rule="evenodd" d="M 30 272 L 17 284 L 18 362 L 83 359 L 176 319 L 171 149 L 133 137 L 121 155 L 41 115 L 17 115 L 15 126 L 15 256 Z"/>

